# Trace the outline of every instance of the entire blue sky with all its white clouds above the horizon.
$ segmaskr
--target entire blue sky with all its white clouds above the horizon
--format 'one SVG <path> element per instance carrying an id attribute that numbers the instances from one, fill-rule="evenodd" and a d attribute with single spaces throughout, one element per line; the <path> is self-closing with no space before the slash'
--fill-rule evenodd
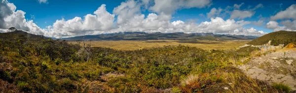
<path id="1" fill-rule="evenodd" d="M 8 28 L 62 38 L 115 32 L 296 31 L 296 0 L 0 0 Z"/>

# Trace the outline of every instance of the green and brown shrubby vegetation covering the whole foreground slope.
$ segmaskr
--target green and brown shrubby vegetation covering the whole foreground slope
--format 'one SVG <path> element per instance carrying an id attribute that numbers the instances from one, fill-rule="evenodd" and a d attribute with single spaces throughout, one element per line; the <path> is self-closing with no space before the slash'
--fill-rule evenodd
<path id="1" fill-rule="evenodd" d="M 203 50 L 179 45 L 120 51 L 3 34 L 1 93 L 277 92 L 232 66 L 250 59 L 258 51 L 253 47 Z"/>

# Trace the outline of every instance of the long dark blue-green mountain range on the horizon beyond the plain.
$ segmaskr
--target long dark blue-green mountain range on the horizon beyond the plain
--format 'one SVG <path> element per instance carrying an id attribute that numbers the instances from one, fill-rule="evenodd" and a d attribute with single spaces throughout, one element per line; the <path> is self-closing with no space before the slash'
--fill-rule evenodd
<path id="1" fill-rule="evenodd" d="M 246 35 L 230 35 L 215 33 L 146 33 L 146 32 L 119 32 L 98 35 L 83 35 L 64 40 L 253 40 L 258 37 Z"/>

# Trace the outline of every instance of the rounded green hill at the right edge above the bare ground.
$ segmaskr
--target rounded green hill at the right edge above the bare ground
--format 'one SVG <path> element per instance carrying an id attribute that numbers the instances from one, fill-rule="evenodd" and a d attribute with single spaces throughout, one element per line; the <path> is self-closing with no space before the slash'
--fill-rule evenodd
<path id="1" fill-rule="evenodd" d="M 271 40 L 271 45 L 289 44 L 296 42 L 296 31 L 276 31 L 265 34 L 257 39 L 250 41 L 250 45 L 263 45 Z"/>

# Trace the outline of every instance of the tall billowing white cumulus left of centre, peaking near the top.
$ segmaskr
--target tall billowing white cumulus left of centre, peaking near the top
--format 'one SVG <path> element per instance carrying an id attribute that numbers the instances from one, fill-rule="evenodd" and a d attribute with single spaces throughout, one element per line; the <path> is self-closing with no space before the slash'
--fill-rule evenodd
<path id="1" fill-rule="evenodd" d="M 75 17 L 70 20 L 56 20 L 53 26 L 48 26 L 48 31 L 52 31 L 53 37 L 84 35 L 94 31 L 109 31 L 113 25 L 114 15 L 107 12 L 105 6 L 105 4 L 102 4 L 94 12 L 95 15 L 87 14 L 84 19 Z"/>

